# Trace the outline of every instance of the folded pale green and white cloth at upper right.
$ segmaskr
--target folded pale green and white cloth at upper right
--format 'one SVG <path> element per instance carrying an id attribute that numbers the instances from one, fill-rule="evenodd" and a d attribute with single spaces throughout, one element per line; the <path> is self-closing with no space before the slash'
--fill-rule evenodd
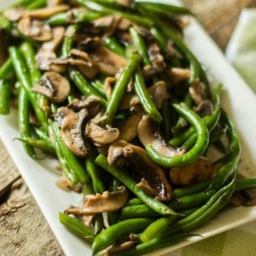
<path id="1" fill-rule="evenodd" d="M 256 9 L 243 9 L 226 57 L 256 92 Z M 256 255 L 256 252 L 255 252 Z"/>

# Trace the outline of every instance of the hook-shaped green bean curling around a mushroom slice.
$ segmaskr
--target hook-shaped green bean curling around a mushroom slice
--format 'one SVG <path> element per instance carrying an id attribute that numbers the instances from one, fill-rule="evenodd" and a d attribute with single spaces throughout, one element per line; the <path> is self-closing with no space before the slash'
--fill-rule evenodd
<path id="1" fill-rule="evenodd" d="M 187 166 L 193 163 L 207 148 L 209 141 L 209 134 L 207 126 L 203 120 L 192 110 L 190 110 L 186 105 L 173 104 L 173 107 L 176 108 L 177 112 L 184 118 L 189 121 L 192 125 L 195 126 L 195 131 L 197 132 L 197 140 L 195 146 L 190 149 L 188 152 L 177 155 L 174 157 L 166 157 L 159 152 L 157 152 L 152 145 L 147 145 L 146 150 L 148 155 L 155 163 L 160 166 L 165 167 L 174 167 L 174 166 Z"/>

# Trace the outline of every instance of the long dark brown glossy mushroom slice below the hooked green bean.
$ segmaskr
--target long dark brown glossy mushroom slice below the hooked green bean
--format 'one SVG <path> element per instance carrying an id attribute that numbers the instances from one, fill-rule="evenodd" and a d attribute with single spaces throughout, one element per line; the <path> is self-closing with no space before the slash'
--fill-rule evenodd
<path id="1" fill-rule="evenodd" d="M 132 166 L 135 166 L 139 175 L 146 181 L 146 183 L 139 183 L 139 186 L 146 188 L 151 193 L 154 191 L 157 192 L 154 195 L 159 201 L 171 200 L 172 187 L 168 183 L 164 170 L 149 158 L 143 148 L 129 144 L 124 148 L 124 155 L 127 160 L 131 161 Z"/>

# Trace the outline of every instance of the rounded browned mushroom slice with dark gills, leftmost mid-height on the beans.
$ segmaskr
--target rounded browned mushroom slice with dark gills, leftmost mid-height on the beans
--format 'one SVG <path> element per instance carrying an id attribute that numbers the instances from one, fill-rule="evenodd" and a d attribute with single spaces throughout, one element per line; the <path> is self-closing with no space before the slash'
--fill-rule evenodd
<path id="1" fill-rule="evenodd" d="M 63 102 L 69 95 L 70 84 L 59 73 L 47 72 L 32 91 L 46 96 L 51 102 Z"/>

